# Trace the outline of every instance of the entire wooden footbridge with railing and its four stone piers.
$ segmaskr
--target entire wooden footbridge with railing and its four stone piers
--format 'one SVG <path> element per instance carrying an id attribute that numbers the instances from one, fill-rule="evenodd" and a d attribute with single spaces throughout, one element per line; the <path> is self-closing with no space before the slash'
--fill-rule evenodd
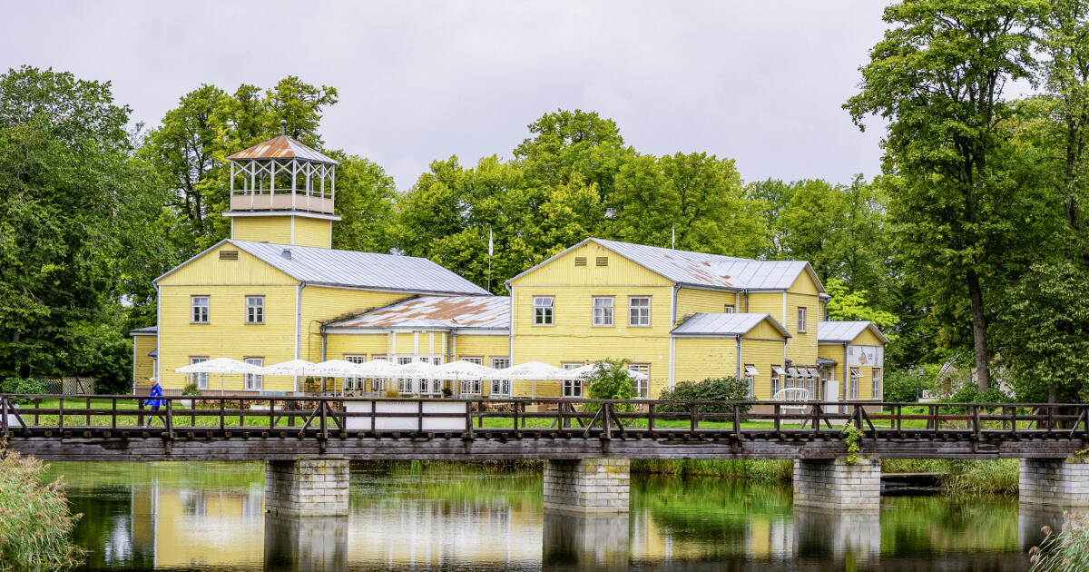
<path id="1" fill-rule="evenodd" d="M 284 512 L 344 513 L 347 461 L 397 459 L 548 460 L 546 506 L 608 512 L 627 508 L 631 459 L 794 459 L 796 504 L 866 510 L 880 497 L 880 458 L 1019 458 L 1023 500 L 1089 504 L 1089 465 L 1074 459 L 1089 440 L 1085 404 L 918 414 L 807 402 L 786 413 L 785 403 L 555 399 L 201 397 L 189 407 L 171 397 L 152 413 L 134 407 L 139 399 L 0 397 L 0 430 L 9 448 L 50 461 L 268 461 L 267 491 Z M 751 405 L 769 411 L 743 411 Z"/>

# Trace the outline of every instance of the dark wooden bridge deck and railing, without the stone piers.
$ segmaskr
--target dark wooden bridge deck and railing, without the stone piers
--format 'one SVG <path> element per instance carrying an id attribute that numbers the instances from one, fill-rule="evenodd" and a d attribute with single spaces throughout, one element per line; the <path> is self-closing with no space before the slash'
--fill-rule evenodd
<path id="1" fill-rule="evenodd" d="M 181 409 L 191 398 L 172 397 L 152 413 L 139 399 L 3 395 L 0 433 L 9 449 L 49 461 L 833 459 L 847 453 L 845 424 L 860 428 L 862 454 L 882 458 L 1065 458 L 1089 448 L 1086 404 L 922 404 L 919 414 L 919 404 L 889 403 L 877 414 L 866 411 L 873 402 L 785 413 L 787 404 L 767 402 L 201 397 L 204 406 Z M 436 403 L 446 411 L 425 411 Z M 403 411 L 383 412 L 389 404 Z M 549 410 L 533 411 L 541 405 Z M 771 411 L 745 411 L 754 405 Z M 144 427 L 149 414 L 161 422 Z M 391 424 L 401 426 L 380 428 Z"/>

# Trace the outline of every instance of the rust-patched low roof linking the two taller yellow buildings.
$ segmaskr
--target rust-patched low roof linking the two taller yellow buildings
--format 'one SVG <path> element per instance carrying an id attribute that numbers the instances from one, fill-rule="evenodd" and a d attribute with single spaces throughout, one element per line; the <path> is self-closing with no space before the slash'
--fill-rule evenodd
<path id="1" fill-rule="evenodd" d="M 510 296 L 419 296 L 351 318 L 326 328 L 484 328 L 510 329 Z"/>

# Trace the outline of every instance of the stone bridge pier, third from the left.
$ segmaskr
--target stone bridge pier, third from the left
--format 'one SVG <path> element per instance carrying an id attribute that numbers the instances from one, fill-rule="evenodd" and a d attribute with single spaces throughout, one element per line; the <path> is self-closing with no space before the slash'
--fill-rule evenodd
<path id="1" fill-rule="evenodd" d="M 881 461 L 795 459 L 794 504 L 832 510 L 876 510 L 881 507 Z"/>

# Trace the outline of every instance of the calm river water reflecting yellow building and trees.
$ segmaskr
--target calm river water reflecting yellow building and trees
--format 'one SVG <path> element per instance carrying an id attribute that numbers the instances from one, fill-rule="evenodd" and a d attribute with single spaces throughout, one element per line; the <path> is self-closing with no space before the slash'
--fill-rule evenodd
<path id="1" fill-rule="evenodd" d="M 885 497 L 794 508 L 788 486 L 633 475 L 631 512 L 546 512 L 537 471 L 353 466 L 351 514 L 264 511 L 260 463 L 53 463 L 87 570 L 1026 571 L 1061 511 Z"/>

